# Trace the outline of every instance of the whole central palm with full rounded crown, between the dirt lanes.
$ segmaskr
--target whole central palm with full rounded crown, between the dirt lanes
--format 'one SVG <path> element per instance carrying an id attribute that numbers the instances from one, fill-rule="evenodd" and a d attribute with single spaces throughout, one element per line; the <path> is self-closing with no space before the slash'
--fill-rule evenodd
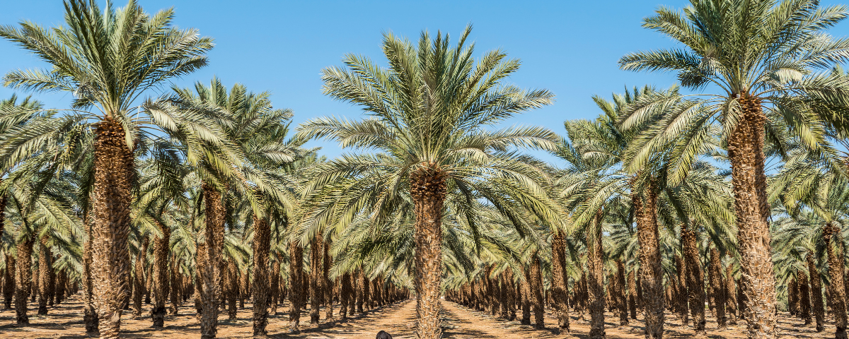
<path id="1" fill-rule="evenodd" d="M 461 34 L 456 47 L 450 47 L 448 36 L 441 33 L 432 39 L 423 32 L 418 46 L 386 33 L 383 51 L 388 69 L 348 55 L 348 69 L 330 67 L 322 72 L 326 94 L 362 105 L 371 117 L 312 119 L 300 127 L 306 137 L 380 152 L 346 154 L 318 166 L 306 187 L 307 196 L 329 183 L 352 184 L 340 188 L 335 200 L 340 203 L 318 208 L 308 220 L 335 216 L 344 228 L 363 209 L 381 220 L 400 199 L 412 201 L 416 332 L 422 338 L 441 336 L 441 225 L 447 198 L 466 206 L 461 215 L 475 227 L 469 205 L 479 199 L 504 206 L 520 202 L 557 220 L 543 189 L 547 179 L 537 167 L 540 164 L 515 152 L 518 147 L 552 148 L 554 133 L 531 127 L 486 129 L 513 114 L 547 105 L 554 95 L 499 86 L 519 68 L 519 61 L 505 60 L 504 53 L 493 51 L 475 64 L 474 45 L 465 44 L 469 31 L 470 27 Z M 502 212 L 516 213 L 513 208 Z"/>

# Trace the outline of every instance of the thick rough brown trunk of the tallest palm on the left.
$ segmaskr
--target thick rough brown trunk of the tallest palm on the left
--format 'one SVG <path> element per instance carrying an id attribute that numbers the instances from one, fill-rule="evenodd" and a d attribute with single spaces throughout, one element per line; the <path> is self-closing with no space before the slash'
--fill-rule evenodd
<path id="1" fill-rule="evenodd" d="M 121 312 L 128 302 L 130 282 L 131 186 L 133 155 L 121 124 L 106 118 L 94 131 L 94 187 L 92 192 L 92 293 L 98 311 L 101 338 L 116 338 Z"/>

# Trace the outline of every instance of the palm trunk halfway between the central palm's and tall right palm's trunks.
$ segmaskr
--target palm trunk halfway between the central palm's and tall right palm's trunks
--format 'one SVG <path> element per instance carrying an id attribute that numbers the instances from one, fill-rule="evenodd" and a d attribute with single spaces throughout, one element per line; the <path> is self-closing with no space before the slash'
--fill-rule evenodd
<path id="1" fill-rule="evenodd" d="M 589 299 L 591 339 L 604 338 L 604 262 L 601 248 L 601 210 L 585 231 L 588 244 L 587 291 Z"/>

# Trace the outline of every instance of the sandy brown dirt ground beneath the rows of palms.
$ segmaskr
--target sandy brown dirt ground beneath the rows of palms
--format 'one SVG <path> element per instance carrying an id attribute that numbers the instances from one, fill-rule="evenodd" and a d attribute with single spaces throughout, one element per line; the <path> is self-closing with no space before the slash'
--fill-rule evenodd
<path id="1" fill-rule="evenodd" d="M 14 325 L 14 309 L 0 310 L 0 338 L 87 338 L 82 324 L 81 295 L 70 298 L 68 302 L 50 308 L 47 316 L 30 316 L 30 325 Z M 194 303 L 192 303 L 194 305 Z M 36 314 L 35 303 L 31 303 L 29 314 Z M 149 305 L 144 305 L 149 309 Z M 284 311 L 288 308 L 278 308 L 278 314 L 272 315 L 268 321 L 268 336 L 272 338 L 349 338 L 373 339 L 380 330 L 391 333 L 396 339 L 413 338 L 415 318 L 415 301 L 408 300 L 384 308 L 374 309 L 368 314 L 349 320 L 337 320 L 334 323 L 323 324 L 318 328 L 309 328 L 309 315 L 301 318 L 305 325 L 301 334 L 287 333 L 289 317 Z M 554 329 L 557 320 L 554 314 L 546 314 L 546 330 L 535 330 L 530 326 L 520 325 L 518 321 L 494 320 L 491 315 L 472 311 L 456 303 L 443 302 L 442 309 L 445 317 L 445 337 L 451 339 L 473 338 L 587 338 L 588 322 L 579 319 L 578 314 L 572 314 L 571 332 L 560 333 Z M 744 338 L 745 324 L 728 326 L 727 330 L 717 331 L 717 324 L 708 314 L 707 333 L 711 338 Z M 322 311 L 322 316 L 324 315 Z M 782 336 L 796 338 L 829 338 L 834 337 L 834 324 L 828 323 L 826 330 L 817 333 L 813 325 L 804 326 L 801 321 L 787 317 L 780 319 Z M 250 303 L 244 309 L 239 309 L 238 320 L 230 321 L 227 314 L 222 314 L 218 322 L 218 337 L 243 338 L 250 337 L 251 322 Z M 605 314 L 606 334 L 609 338 L 642 338 L 642 317 L 631 320 L 631 325 L 619 326 L 614 314 Z M 166 316 L 166 328 L 155 330 L 149 317 L 133 319 L 125 314 L 121 320 L 122 336 L 128 338 L 196 338 L 200 336 L 200 327 L 194 317 L 194 307 L 183 307 L 177 315 Z M 674 315 L 666 315 L 666 338 L 688 338 L 692 336 L 690 326 L 682 326 Z"/>

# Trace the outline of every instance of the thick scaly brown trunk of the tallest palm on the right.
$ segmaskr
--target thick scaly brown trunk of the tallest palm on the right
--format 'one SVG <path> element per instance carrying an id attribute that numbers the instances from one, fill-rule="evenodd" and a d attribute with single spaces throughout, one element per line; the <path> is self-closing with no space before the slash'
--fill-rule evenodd
<path id="1" fill-rule="evenodd" d="M 774 338 L 777 334 L 775 277 L 770 248 L 767 176 L 764 174 L 764 124 L 760 99 L 741 93 L 741 116 L 728 136 L 734 211 L 737 214 L 740 270 L 745 276 L 749 316 L 747 335 Z"/>

